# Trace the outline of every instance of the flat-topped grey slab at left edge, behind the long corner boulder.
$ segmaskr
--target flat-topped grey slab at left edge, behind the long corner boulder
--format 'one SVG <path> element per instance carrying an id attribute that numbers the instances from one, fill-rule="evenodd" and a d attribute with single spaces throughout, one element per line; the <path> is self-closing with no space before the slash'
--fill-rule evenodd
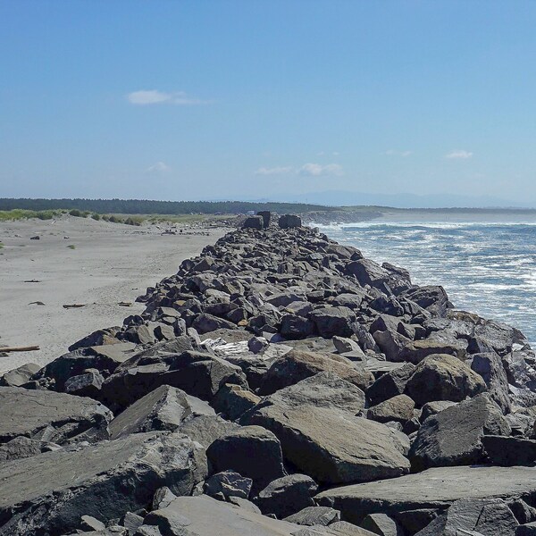
<path id="1" fill-rule="evenodd" d="M 110 410 L 91 398 L 48 390 L 0 388 L 0 443 L 18 436 L 63 443 L 81 433 L 108 438 Z"/>

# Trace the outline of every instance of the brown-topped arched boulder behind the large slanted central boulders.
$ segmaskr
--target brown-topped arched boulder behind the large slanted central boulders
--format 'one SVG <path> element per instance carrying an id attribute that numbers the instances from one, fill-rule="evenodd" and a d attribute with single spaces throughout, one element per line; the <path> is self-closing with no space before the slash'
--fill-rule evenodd
<path id="1" fill-rule="evenodd" d="M 352 363 L 346 357 L 293 349 L 272 364 L 264 375 L 260 394 L 270 395 L 278 389 L 322 372 L 337 374 L 339 378 L 353 383 L 360 389 L 366 389 L 374 379 L 372 373 L 365 371 L 363 367 Z"/>

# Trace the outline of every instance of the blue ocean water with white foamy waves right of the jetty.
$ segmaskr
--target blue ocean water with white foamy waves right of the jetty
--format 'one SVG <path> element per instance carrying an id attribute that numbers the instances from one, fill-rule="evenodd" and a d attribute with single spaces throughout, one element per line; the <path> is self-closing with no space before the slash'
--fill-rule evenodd
<path id="1" fill-rule="evenodd" d="M 536 222 L 392 221 L 318 225 L 377 263 L 442 285 L 456 309 L 506 322 L 536 348 Z"/>

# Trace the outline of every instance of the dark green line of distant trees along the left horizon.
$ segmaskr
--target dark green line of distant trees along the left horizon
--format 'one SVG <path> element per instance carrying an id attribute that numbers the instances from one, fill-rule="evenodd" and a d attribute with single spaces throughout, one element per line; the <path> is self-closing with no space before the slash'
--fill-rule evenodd
<path id="1" fill-rule="evenodd" d="M 324 212 L 336 207 L 300 203 L 248 203 L 247 201 L 151 201 L 147 199 L 30 199 L 0 198 L 0 211 L 64 209 L 72 215 L 95 214 L 246 214 L 269 210 L 283 213 Z M 77 212 L 77 214 L 73 214 Z M 85 214 L 84 214 L 85 213 Z"/>

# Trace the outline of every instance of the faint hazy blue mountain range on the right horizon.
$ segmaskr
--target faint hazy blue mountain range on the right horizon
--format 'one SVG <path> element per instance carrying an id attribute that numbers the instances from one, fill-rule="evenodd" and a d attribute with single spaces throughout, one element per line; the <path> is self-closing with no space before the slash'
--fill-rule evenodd
<path id="1" fill-rule="evenodd" d="M 464 196 L 456 194 L 366 194 L 345 190 L 326 190 L 306 194 L 276 194 L 264 199 L 248 201 L 280 203 L 307 203 L 313 205 L 348 206 L 374 205 L 395 208 L 534 208 L 534 203 L 519 203 L 492 196 Z"/>

